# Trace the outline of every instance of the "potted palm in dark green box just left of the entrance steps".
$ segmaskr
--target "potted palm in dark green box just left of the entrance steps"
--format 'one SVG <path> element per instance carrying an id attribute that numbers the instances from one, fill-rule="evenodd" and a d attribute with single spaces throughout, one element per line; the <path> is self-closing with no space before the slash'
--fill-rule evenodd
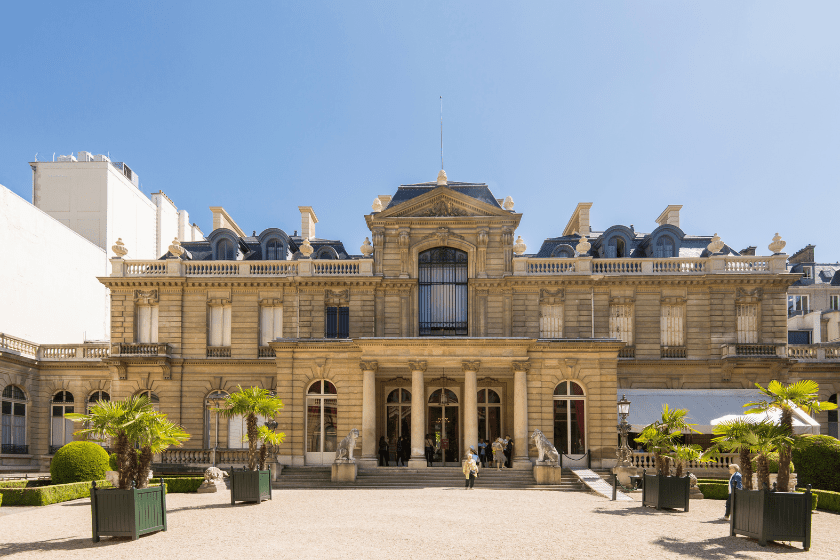
<path id="1" fill-rule="evenodd" d="M 248 441 L 248 466 L 237 471 L 231 468 L 230 503 L 256 502 L 271 499 L 271 471 L 265 469 L 268 446 L 282 443 L 285 434 L 276 434 L 267 427 L 259 426 L 258 418 L 274 418 L 283 409 L 283 401 L 266 389 L 249 387 L 225 397 L 219 412 L 227 418 L 245 418 Z M 262 447 L 257 451 L 257 444 Z"/>

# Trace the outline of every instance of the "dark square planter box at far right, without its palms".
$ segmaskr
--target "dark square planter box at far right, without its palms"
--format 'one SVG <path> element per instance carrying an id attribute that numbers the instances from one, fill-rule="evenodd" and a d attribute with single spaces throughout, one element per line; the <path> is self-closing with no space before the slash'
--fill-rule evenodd
<path id="1" fill-rule="evenodd" d="M 767 541 L 801 542 L 811 547 L 811 486 L 805 493 L 739 490 L 732 492 L 729 535 Z"/>

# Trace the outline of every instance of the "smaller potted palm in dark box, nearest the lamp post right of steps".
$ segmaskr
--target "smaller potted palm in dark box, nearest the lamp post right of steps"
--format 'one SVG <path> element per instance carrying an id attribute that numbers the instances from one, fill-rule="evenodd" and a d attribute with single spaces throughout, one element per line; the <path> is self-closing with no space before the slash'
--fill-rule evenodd
<path id="1" fill-rule="evenodd" d="M 659 420 L 647 425 L 636 438 L 648 452 L 653 453 L 656 463 L 656 474 L 642 473 L 642 506 L 662 508 L 689 509 L 689 494 L 691 480 L 682 475 L 682 461 L 676 460 L 678 476 L 670 476 L 670 462 L 672 455 L 678 448 L 677 441 L 686 431 L 697 432 L 685 417 L 688 411 L 681 408 L 670 408 L 667 404 L 662 410 Z M 686 449 L 682 449 L 687 447 Z M 692 446 L 681 446 L 682 455 L 687 459 L 697 457 L 697 449 Z"/>

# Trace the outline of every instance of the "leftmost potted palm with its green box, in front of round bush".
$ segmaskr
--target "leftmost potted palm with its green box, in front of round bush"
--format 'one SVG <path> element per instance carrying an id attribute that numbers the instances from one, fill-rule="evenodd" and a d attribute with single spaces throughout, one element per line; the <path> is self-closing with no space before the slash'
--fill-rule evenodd
<path id="1" fill-rule="evenodd" d="M 155 411 L 146 396 L 125 401 L 99 401 L 89 414 L 66 414 L 84 426 L 76 434 L 94 440 L 112 439 L 117 455 L 118 485 L 90 490 L 93 542 L 103 536 L 131 537 L 166 531 L 166 486 L 149 486 L 152 456 L 189 439 L 180 426 Z"/>

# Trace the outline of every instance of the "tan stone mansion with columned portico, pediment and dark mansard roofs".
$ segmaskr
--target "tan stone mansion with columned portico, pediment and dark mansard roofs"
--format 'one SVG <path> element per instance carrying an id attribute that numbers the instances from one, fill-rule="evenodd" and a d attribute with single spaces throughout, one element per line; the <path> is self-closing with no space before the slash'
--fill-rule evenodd
<path id="1" fill-rule="evenodd" d="M 361 255 L 317 238 L 310 207 L 300 235 L 248 236 L 214 208 L 205 240 L 173 242 L 159 260 L 115 246 L 99 279 L 110 343 L 0 341 L 0 468 L 46 464 L 73 437 L 68 409 L 137 393 L 192 434 L 162 461 L 205 464 L 217 448 L 220 464 L 234 462 L 224 454 L 243 446 L 241 420 L 212 408 L 256 385 L 285 403 L 283 464 L 328 464 L 358 428 L 363 467 L 381 436 L 406 437 L 409 466 L 425 467 L 430 434 L 436 464 L 510 435 L 514 467 L 528 468 L 534 429 L 561 453 L 614 465 L 622 390 L 713 395 L 807 377 L 826 399 L 840 392 L 836 367 L 788 356 L 786 294 L 799 275 L 779 239 L 771 256 L 742 256 L 683 232 L 680 206 L 650 233 L 593 231 L 582 203 L 528 253 L 513 206 L 441 172 L 375 199 Z"/>

